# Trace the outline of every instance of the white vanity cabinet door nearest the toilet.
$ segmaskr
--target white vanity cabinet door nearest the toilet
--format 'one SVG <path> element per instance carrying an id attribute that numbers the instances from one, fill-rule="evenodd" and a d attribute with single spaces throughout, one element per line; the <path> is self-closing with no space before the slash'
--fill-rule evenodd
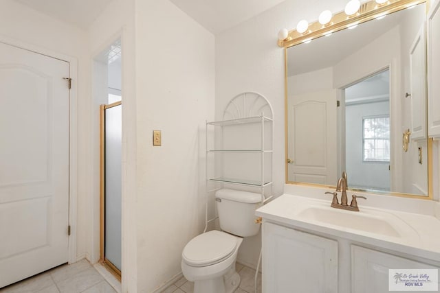
<path id="1" fill-rule="evenodd" d="M 263 224 L 263 292 L 338 292 L 338 242 Z"/>

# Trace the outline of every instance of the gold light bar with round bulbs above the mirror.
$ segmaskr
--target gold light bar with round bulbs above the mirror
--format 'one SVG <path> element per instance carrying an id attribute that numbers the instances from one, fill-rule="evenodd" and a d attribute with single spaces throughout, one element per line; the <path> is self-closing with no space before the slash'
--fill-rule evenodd
<path id="1" fill-rule="evenodd" d="M 375 0 L 362 3 L 358 12 L 351 16 L 347 16 L 344 11 L 338 12 L 331 18 L 331 25 L 322 25 L 319 21 L 310 23 L 307 32 L 300 34 L 296 30 L 289 31 L 287 37 L 283 40 L 278 39 L 278 46 L 280 47 L 292 47 L 300 43 L 304 43 L 305 40 L 313 40 L 321 36 L 325 36 L 330 31 L 338 32 L 344 30 L 347 27 L 353 25 L 353 23 L 364 23 L 371 21 L 378 16 L 390 14 L 399 10 L 407 8 L 409 5 L 417 5 L 419 3 L 425 3 L 427 0 L 389 0 L 384 4 L 377 4 Z"/>

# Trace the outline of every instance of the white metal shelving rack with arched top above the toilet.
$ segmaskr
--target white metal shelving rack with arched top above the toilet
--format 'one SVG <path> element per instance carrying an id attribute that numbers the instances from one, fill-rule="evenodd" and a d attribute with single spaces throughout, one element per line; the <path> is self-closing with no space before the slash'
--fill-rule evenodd
<path id="1" fill-rule="evenodd" d="M 272 108 L 262 95 L 243 93 L 231 100 L 223 118 L 206 122 L 207 191 L 241 185 L 261 193 L 264 204 L 272 198 Z M 209 183 L 217 184 L 208 188 Z"/>

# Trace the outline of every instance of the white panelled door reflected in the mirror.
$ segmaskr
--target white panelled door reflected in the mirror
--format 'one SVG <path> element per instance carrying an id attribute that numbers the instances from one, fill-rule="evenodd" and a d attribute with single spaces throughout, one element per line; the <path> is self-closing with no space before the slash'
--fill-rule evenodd
<path id="1" fill-rule="evenodd" d="M 289 181 L 336 184 L 336 89 L 289 98 Z"/>

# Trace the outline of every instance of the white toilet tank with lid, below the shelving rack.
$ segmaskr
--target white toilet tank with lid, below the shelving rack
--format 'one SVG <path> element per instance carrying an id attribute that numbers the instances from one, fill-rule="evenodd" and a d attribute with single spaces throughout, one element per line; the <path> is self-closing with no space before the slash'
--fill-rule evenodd
<path id="1" fill-rule="evenodd" d="M 240 237 L 259 233 L 255 210 L 261 207 L 261 194 L 220 189 L 215 193 L 221 230 Z"/>

